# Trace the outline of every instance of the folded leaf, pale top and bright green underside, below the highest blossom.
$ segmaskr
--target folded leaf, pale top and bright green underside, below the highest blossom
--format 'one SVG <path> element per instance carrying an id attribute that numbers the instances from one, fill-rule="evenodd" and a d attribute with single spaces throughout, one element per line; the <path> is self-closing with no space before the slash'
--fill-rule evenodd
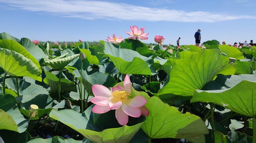
<path id="1" fill-rule="evenodd" d="M 152 58 L 144 57 L 130 49 L 117 48 L 106 41 L 104 52 L 121 73 L 151 75 L 151 70 L 147 63 L 152 63 Z"/>

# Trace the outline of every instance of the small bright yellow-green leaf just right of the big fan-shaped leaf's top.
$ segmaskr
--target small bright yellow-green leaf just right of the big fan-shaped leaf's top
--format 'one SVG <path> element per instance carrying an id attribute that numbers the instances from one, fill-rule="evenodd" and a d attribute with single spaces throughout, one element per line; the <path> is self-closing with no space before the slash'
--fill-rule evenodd
<path id="1" fill-rule="evenodd" d="M 238 48 L 229 45 L 220 45 L 219 49 L 228 55 L 230 58 L 236 58 L 237 60 L 244 59 L 243 53 L 239 51 Z"/>

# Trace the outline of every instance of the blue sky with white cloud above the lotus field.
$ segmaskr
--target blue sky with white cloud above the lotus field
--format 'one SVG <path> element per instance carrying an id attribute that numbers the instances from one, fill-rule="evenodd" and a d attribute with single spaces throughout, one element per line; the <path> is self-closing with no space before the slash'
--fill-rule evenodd
<path id="1" fill-rule="evenodd" d="M 256 0 L 0 0 L 0 33 L 42 41 L 98 41 L 145 27 L 146 43 L 256 41 Z"/>

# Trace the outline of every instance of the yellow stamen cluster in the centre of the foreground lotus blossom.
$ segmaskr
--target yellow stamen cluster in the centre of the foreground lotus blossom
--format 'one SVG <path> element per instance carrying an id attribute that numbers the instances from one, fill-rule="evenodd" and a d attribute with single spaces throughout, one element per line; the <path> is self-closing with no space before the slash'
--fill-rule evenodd
<path id="1" fill-rule="evenodd" d="M 125 90 L 116 90 L 112 93 L 111 102 L 117 103 L 122 102 L 128 104 L 130 94 Z"/>

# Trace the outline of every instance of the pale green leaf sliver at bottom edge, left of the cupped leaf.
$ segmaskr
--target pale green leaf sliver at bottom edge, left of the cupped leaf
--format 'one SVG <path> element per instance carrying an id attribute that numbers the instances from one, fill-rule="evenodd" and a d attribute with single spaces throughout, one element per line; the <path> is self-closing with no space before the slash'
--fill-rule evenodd
<path id="1" fill-rule="evenodd" d="M 55 136 L 55 137 L 49 138 L 49 139 L 35 138 L 35 139 L 30 140 L 27 143 L 87 143 L 87 142 L 76 141 L 72 138 L 64 139 L 60 136 Z"/>

